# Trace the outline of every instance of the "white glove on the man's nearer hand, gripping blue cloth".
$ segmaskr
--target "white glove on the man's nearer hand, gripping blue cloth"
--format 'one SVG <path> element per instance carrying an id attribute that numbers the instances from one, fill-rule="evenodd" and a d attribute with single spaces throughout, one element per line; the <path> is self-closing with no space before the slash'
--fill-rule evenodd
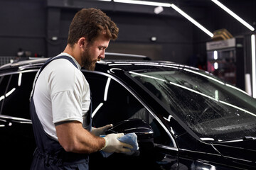
<path id="1" fill-rule="evenodd" d="M 124 142 L 120 142 L 117 138 L 124 136 L 124 133 L 112 133 L 103 137 L 105 139 L 105 146 L 102 148 L 104 152 L 131 152 L 133 148 Z"/>

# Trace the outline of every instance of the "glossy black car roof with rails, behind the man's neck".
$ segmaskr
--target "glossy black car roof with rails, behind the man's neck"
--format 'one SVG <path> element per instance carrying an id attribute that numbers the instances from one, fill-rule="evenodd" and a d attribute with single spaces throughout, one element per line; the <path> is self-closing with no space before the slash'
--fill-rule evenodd
<path id="1" fill-rule="evenodd" d="M 105 71 L 111 68 L 119 68 L 124 71 L 129 71 L 134 69 L 146 69 L 149 67 L 188 67 L 183 64 L 176 64 L 169 61 L 151 60 L 149 57 L 144 55 L 106 52 L 105 56 L 105 60 L 97 62 L 97 66 L 100 65 L 100 67 L 96 66 L 96 71 L 99 68 L 103 71 L 103 67 L 105 67 Z M 25 69 L 39 69 L 46 60 L 48 60 L 48 58 L 29 57 L 28 60 L 20 60 L 18 62 L 4 64 L 0 67 L 0 74 L 6 72 L 17 72 Z M 197 69 L 194 67 L 190 68 Z"/>

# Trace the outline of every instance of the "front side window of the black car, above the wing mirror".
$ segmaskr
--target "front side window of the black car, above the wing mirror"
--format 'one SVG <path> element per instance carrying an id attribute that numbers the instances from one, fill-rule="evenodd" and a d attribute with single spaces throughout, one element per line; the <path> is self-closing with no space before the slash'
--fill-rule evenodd
<path id="1" fill-rule="evenodd" d="M 164 129 L 124 86 L 110 77 L 85 74 L 92 93 L 92 116 L 95 127 L 139 118 L 151 125 L 154 142 L 173 146 Z"/>

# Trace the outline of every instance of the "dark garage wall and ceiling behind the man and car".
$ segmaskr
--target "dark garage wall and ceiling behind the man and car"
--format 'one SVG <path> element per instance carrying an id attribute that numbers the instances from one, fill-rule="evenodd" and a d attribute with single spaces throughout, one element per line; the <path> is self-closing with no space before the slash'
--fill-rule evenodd
<path id="1" fill-rule="evenodd" d="M 147 0 L 149 1 L 149 0 Z M 245 90 L 244 76 L 252 72 L 252 32 L 210 0 L 154 0 L 173 3 L 213 33 L 225 28 L 239 38 L 243 62 L 238 77 Z M 119 38 L 110 43 L 107 52 L 146 55 L 152 60 L 169 60 L 206 69 L 206 42 L 210 36 L 181 16 L 173 8 L 120 4 L 114 1 L 86 0 L 0 0 L 0 59 L 16 57 L 18 50 L 31 57 L 53 57 L 62 52 L 68 38 L 70 22 L 80 8 L 100 8 L 119 27 Z M 251 26 L 256 26 L 256 1 L 220 1 Z M 155 37 L 156 41 L 151 38 Z"/>

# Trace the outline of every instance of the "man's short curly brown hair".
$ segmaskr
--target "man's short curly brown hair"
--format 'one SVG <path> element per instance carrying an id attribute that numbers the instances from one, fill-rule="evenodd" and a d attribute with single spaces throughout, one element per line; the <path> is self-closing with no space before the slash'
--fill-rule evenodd
<path id="1" fill-rule="evenodd" d="M 83 8 L 75 14 L 68 32 L 68 44 L 73 45 L 82 37 L 93 42 L 102 31 L 111 40 L 116 40 L 119 32 L 117 25 L 100 9 Z"/>

